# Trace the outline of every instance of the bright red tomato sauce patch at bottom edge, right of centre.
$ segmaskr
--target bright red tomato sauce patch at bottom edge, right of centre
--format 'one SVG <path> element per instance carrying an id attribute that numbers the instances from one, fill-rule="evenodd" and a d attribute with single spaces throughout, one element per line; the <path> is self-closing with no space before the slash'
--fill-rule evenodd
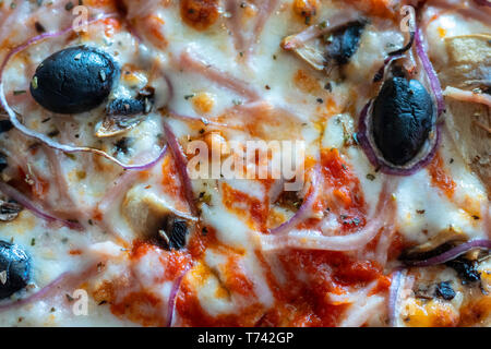
<path id="1" fill-rule="evenodd" d="M 372 293 L 381 293 L 391 285 L 380 265 L 354 261 L 342 252 L 292 250 L 279 258 L 288 280 L 279 285 L 267 274 L 270 284 L 275 285 L 276 304 L 259 326 L 336 326 L 349 304 L 332 302 L 327 293 L 343 294 L 347 287 L 366 287 L 374 280 L 378 285 Z"/>

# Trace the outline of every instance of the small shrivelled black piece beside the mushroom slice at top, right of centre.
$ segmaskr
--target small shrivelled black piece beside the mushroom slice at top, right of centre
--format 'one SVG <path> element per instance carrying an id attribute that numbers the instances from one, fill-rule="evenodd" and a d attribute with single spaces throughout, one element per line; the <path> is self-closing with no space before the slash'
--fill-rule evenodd
<path id="1" fill-rule="evenodd" d="M 366 22 L 351 22 L 334 31 L 326 48 L 326 59 L 335 60 L 338 64 L 348 63 L 360 46 L 361 34 Z"/>

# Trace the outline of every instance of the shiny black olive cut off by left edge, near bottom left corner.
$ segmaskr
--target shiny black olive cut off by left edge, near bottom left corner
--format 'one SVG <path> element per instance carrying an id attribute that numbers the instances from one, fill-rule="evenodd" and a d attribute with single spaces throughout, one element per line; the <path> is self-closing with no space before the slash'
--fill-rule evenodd
<path id="1" fill-rule="evenodd" d="M 0 299 L 4 299 L 27 286 L 31 258 L 21 246 L 0 240 Z"/>

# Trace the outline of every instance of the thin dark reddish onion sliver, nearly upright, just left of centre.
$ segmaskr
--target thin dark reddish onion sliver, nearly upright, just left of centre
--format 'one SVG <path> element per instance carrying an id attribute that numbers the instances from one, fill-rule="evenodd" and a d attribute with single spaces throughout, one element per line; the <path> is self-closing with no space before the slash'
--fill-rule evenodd
<path id="1" fill-rule="evenodd" d="M 179 178 L 184 189 L 185 200 L 188 201 L 193 216 L 197 216 L 197 207 L 196 203 L 194 202 L 193 186 L 191 178 L 188 173 L 188 158 L 185 157 L 185 154 L 182 151 L 181 145 L 176 137 L 176 134 L 173 134 L 168 123 L 164 124 L 164 130 L 167 136 L 167 144 L 169 145 L 170 152 L 172 153 L 173 160 L 176 161 L 178 168 Z"/>

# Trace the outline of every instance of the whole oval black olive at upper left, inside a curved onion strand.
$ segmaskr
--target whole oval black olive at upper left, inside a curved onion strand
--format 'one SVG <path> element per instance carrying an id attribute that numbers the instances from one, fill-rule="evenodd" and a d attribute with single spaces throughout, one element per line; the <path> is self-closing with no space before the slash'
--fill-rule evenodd
<path id="1" fill-rule="evenodd" d="M 31 94 L 49 111 L 85 112 L 109 96 L 118 74 L 119 69 L 108 53 L 88 46 L 70 47 L 39 64 Z"/>

